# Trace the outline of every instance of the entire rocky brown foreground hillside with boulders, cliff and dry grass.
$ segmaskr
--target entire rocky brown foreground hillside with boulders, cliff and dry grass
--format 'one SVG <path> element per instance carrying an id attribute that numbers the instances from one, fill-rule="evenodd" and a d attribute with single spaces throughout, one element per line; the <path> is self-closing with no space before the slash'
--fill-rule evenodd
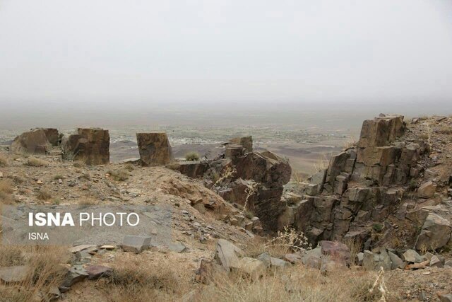
<path id="1" fill-rule="evenodd" d="M 33 129 L 0 150 L 2 204 L 172 211 L 169 243 L 155 221 L 96 243 L 0 245 L 0 301 L 451 301 L 452 118 L 364 121 L 306 181 L 251 137 L 174 161 L 165 134 L 137 136 L 141 160 L 121 164 L 104 129 Z"/>

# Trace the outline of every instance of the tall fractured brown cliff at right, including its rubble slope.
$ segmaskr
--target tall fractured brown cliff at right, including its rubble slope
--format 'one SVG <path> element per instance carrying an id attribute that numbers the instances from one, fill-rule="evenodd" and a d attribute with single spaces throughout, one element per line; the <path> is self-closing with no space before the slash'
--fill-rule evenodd
<path id="1" fill-rule="evenodd" d="M 314 244 L 350 238 L 371 248 L 397 237 L 417 249 L 447 245 L 452 166 L 450 156 L 440 162 L 432 153 L 448 147 L 432 139 L 434 126 L 416 122 L 407 127 L 399 115 L 364 121 L 356 146 L 332 156 L 307 182 L 287 186 L 278 228 L 293 226 Z"/>

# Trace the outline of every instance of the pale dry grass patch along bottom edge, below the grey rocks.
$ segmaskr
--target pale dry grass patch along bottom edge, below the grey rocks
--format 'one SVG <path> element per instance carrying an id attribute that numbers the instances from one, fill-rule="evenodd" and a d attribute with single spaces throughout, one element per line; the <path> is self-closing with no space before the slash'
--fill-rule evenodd
<path id="1" fill-rule="evenodd" d="M 376 301 L 379 294 L 369 292 L 374 279 L 371 273 L 342 270 L 325 277 L 319 269 L 298 266 L 256 280 L 222 273 L 199 289 L 194 301 Z"/>

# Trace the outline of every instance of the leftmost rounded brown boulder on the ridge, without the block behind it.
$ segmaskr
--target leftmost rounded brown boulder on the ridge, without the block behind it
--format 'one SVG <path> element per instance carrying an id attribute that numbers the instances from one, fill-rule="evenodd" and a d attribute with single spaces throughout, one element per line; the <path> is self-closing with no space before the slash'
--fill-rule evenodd
<path id="1" fill-rule="evenodd" d="M 51 144 L 43 129 L 32 129 L 23 132 L 11 144 L 11 151 L 16 153 L 45 154 L 49 151 Z"/>

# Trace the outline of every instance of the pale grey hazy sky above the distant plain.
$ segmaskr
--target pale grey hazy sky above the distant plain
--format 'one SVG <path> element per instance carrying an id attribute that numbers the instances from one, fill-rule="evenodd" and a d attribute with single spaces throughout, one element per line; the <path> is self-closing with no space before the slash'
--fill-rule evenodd
<path id="1" fill-rule="evenodd" d="M 0 103 L 0 127 L 181 104 L 452 113 L 452 1 L 0 0 Z"/>

